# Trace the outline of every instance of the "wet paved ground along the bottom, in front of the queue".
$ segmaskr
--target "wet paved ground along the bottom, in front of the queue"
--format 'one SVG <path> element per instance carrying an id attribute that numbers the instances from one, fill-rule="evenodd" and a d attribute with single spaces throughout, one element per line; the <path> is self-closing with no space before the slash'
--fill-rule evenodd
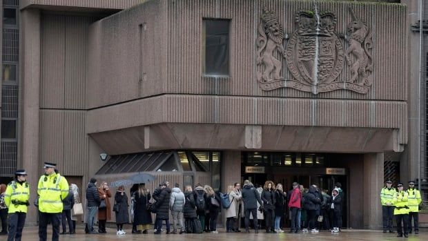
<path id="1" fill-rule="evenodd" d="M 49 226 L 50 227 L 50 226 Z M 126 230 L 130 233 L 130 230 Z M 342 233 L 331 234 L 327 231 L 320 233 L 226 233 L 220 229 L 219 233 L 203 233 L 203 234 L 169 234 L 154 235 L 153 232 L 149 234 L 126 234 L 117 236 L 115 229 L 108 229 L 106 234 L 87 235 L 83 230 L 77 231 L 75 235 L 61 235 L 59 240 L 79 240 L 79 241 L 109 241 L 109 240 L 157 240 L 157 241 L 267 241 L 269 240 L 314 240 L 314 241 L 335 241 L 335 240 L 428 240 L 428 231 L 422 231 L 419 235 L 411 234 L 409 238 L 396 238 L 396 233 L 382 233 L 382 231 L 360 231 L 360 230 L 344 230 Z M 48 240 L 51 234 L 48 233 Z M 220 240 L 219 240 L 220 239 Z M 6 236 L 0 236 L 0 240 L 6 240 Z M 24 228 L 23 241 L 39 240 L 37 234 L 37 227 Z"/>

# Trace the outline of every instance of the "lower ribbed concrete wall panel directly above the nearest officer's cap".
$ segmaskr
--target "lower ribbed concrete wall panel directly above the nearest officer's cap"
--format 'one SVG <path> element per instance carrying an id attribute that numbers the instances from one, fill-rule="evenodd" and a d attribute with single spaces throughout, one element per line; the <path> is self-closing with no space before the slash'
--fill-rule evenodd
<path id="1" fill-rule="evenodd" d="M 40 162 L 54 162 L 64 171 L 64 113 L 58 110 L 40 110 Z"/>

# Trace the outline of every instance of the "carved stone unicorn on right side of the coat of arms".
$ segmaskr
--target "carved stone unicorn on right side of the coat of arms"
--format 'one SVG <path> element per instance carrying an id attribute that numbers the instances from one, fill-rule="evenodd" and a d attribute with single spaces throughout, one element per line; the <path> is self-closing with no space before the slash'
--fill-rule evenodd
<path id="1" fill-rule="evenodd" d="M 373 58 L 369 52 L 373 41 L 371 39 L 371 29 L 364 21 L 356 17 L 352 8 L 349 8 L 352 16 L 351 23 L 348 24 L 347 30 L 350 37 L 347 39 L 349 48 L 345 52 L 348 66 L 351 67 L 351 82 L 362 85 L 371 85 L 367 76 L 373 71 Z M 351 55 L 354 61 L 351 61 Z"/>

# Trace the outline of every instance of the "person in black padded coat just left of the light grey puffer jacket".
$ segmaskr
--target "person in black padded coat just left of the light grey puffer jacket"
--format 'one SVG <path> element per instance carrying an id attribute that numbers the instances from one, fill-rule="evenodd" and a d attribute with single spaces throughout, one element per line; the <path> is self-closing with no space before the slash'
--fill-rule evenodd
<path id="1" fill-rule="evenodd" d="M 155 204 L 157 222 L 155 234 L 161 233 L 163 220 L 165 220 L 166 223 L 166 234 L 169 234 L 171 229 L 169 224 L 169 200 L 171 197 L 171 189 L 168 188 L 166 182 L 162 182 L 161 189 L 162 191 L 159 193 Z"/>

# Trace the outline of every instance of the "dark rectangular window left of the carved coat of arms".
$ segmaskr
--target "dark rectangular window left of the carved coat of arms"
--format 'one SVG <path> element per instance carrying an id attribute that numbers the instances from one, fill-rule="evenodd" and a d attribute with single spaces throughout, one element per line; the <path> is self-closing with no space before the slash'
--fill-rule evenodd
<path id="1" fill-rule="evenodd" d="M 204 75 L 229 75 L 229 21 L 204 20 Z"/>

